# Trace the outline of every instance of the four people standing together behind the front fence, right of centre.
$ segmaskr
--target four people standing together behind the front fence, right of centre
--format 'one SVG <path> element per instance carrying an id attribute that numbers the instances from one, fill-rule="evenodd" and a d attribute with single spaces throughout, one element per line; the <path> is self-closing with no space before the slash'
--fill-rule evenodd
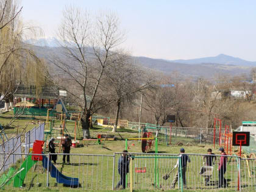
<path id="1" fill-rule="evenodd" d="M 224 148 L 219 148 L 219 151 L 221 152 L 221 157 L 219 159 L 219 165 L 218 165 L 218 175 L 219 175 L 219 182 L 218 182 L 218 188 L 222 187 L 228 187 L 227 180 L 224 177 L 224 174 L 227 170 L 227 154 L 224 151 Z M 122 185 L 123 189 L 126 188 L 126 174 L 129 172 L 129 162 L 130 157 L 127 156 L 127 150 L 123 151 L 123 154 L 118 160 L 118 173 L 120 175 L 120 180 L 118 184 L 116 185 L 117 189 Z M 207 155 L 204 155 L 204 162 L 206 166 L 213 166 L 215 165 L 216 161 L 216 155 L 212 153 L 212 149 L 207 150 Z M 183 181 L 183 188 L 187 188 L 187 181 L 186 181 L 186 171 L 187 171 L 187 163 L 190 163 L 190 157 L 185 154 L 185 149 L 180 149 L 180 159 L 181 159 L 181 165 L 179 162 L 179 159 L 177 160 L 176 165 L 174 168 L 177 168 L 181 166 L 182 171 L 182 181 Z M 204 172 L 204 169 L 201 169 L 199 174 L 202 174 Z M 180 177 L 180 169 L 177 169 L 177 172 L 174 176 L 174 180 L 172 180 L 171 188 L 175 188 L 175 185 Z M 210 185 L 210 176 L 205 176 L 205 185 Z"/>

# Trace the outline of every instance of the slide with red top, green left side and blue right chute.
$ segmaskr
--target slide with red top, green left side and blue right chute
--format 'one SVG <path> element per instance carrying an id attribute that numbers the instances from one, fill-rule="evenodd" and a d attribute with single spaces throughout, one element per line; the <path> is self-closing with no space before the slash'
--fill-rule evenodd
<path id="1" fill-rule="evenodd" d="M 43 144 L 44 141 L 35 140 L 32 155 L 28 155 L 26 157 L 26 160 L 21 165 L 20 173 L 14 177 L 13 186 L 23 187 L 24 179 L 26 177 L 27 172 L 38 161 L 41 161 L 43 163 L 43 168 L 49 169 L 49 171 L 51 172 L 51 177 L 56 178 L 57 183 L 63 183 L 71 187 L 78 186 L 78 178 L 64 176 L 57 168 L 55 168 L 54 165 L 52 165 L 51 161 L 49 161 L 45 155 L 38 155 L 43 154 Z"/>

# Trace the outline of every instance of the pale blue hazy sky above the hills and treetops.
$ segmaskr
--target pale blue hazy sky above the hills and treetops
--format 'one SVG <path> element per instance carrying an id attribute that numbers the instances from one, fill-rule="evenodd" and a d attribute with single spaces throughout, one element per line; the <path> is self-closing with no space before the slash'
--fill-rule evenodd
<path id="1" fill-rule="evenodd" d="M 126 31 L 123 47 L 154 59 L 218 54 L 256 61 L 256 1 L 236 0 L 22 0 L 26 23 L 55 37 L 65 6 L 113 11 Z"/>

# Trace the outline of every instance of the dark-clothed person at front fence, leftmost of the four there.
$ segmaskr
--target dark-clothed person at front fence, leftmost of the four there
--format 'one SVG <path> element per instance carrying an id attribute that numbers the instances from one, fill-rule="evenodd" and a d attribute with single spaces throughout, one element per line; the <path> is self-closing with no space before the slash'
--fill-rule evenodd
<path id="1" fill-rule="evenodd" d="M 128 152 L 127 150 L 124 150 L 123 154 L 118 160 L 118 173 L 120 175 L 120 180 L 116 185 L 115 189 L 117 189 L 121 185 L 123 189 L 126 188 L 126 174 L 129 172 L 129 163 L 130 163 L 130 158 L 126 154 L 127 152 Z"/>

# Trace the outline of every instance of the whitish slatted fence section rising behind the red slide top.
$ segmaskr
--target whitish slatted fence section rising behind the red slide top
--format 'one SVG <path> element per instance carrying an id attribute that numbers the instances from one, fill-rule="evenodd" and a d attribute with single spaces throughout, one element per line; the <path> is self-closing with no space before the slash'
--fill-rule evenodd
<path id="1" fill-rule="evenodd" d="M 35 140 L 44 140 L 44 123 L 25 133 L 25 154 L 29 153 L 29 148 L 32 148 Z"/>

